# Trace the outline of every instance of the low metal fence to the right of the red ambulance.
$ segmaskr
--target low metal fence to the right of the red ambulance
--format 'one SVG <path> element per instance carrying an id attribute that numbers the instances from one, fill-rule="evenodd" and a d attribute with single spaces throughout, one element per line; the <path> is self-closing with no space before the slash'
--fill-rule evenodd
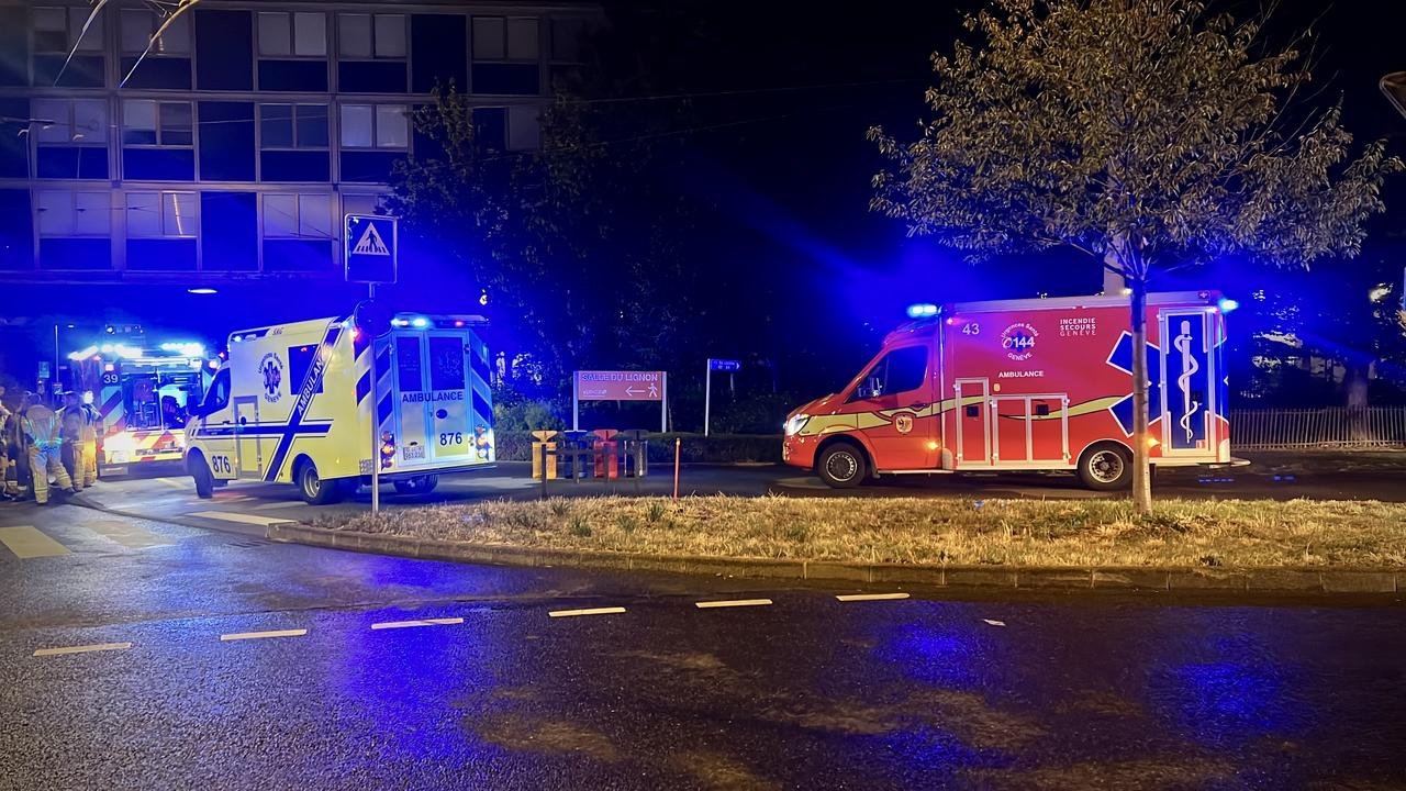
<path id="1" fill-rule="evenodd" d="M 1291 448 L 1406 448 L 1406 407 L 1233 410 L 1237 450 Z"/>

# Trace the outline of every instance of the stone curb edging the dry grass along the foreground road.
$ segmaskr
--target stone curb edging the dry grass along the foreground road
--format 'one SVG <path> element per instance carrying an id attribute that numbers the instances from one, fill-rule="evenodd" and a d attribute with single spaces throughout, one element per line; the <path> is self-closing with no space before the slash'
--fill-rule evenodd
<path id="1" fill-rule="evenodd" d="M 1189 594 L 1393 594 L 1406 590 L 1406 570 L 1392 569 L 1156 569 L 1156 567 L 997 567 L 842 563 L 693 557 L 630 552 L 531 549 L 385 533 L 329 531 L 299 522 L 269 525 L 264 538 L 328 549 L 396 555 L 422 560 L 498 566 L 569 566 L 616 571 L 727 574 L 773 580 L 898 583 L 938 588 L 1046 591 L 1175 591 Z"/>

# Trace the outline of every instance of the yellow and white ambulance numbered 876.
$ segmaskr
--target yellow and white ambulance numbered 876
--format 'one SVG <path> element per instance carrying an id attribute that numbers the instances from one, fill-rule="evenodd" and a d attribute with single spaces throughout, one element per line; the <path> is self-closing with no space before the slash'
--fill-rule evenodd
<path id="1" fill-rule="evenodd" d="M 441 473 L 491 469 L 488 348 L 474 332 L 484 324 L 349 315 L 231 334 L 229 359 L 191 410 L 186 469 L 195 494 L 280 481 L 321 505 L 370 483 L 371 464 L 402 494 L 432 491 Z"/>

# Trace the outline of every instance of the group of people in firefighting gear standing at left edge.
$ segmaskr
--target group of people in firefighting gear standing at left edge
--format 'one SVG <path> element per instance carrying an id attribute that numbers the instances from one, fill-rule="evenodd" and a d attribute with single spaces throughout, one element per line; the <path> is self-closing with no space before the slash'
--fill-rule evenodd
<path id="1" fill-rule="evenodd" d="M 59 491 L 77 494 L 97 483 L 98 414 L 84 398 L 63 394 L 58 410 L 25 393 L 11 410 L 0 387 L 0 500 L 49 502 L 49 479 Z"/>

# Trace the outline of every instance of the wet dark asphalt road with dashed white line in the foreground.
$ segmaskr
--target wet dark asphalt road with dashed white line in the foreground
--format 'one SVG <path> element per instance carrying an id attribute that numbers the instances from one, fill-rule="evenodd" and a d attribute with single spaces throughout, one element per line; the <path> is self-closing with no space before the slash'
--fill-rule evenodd
<path id="1" fill-rule="evenodd" d="M 3 505 L 0 790 L 1406 787 L 1399 600 L 855 593 Z"/>

